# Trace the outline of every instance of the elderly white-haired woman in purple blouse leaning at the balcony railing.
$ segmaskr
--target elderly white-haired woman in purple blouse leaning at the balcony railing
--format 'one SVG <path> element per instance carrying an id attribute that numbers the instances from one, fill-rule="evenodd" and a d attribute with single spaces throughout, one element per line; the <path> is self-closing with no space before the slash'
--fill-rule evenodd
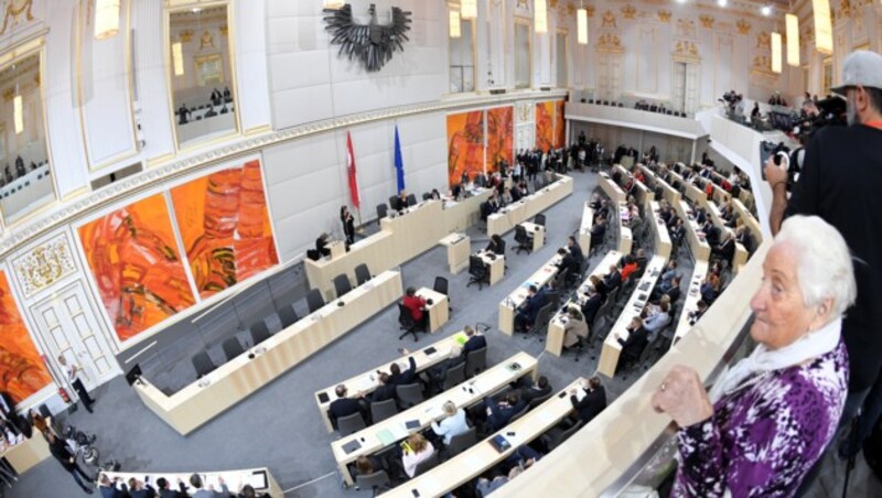
<path id="1" fill-rule="evenodd" d="M 841 235 L 816 216 L 787 219 L 751 300 L 754 351 L 710 393 L 671 368 L 653 407 L 680 426 L 673 496 L 792 496 L 832 439 L 848 394 L 842 313 L 857 285 Z"/>

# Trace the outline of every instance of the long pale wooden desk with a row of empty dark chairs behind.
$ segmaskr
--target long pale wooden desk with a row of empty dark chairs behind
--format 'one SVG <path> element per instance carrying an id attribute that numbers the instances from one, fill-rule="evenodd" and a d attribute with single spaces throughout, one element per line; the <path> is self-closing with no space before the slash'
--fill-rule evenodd
<path id="1" fill-rule="evenodd" d="M 166 424 L 186 435 L 383 311 L 402 293 L 401 274 L 383 272 L 251 348 L 254 358 L 246 351 L 172 396 L 143 378 L 133 385 L 135 392 Z M 337 305 L 341 301 L 344 306 Z"/>

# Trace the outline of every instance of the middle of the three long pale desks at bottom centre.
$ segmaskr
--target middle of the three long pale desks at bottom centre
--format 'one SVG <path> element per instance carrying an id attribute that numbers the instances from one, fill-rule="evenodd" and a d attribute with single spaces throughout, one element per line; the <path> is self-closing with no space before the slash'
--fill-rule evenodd
<path id="1" fill-rule="evenodd" d="M 514 364 L 519 366 L 517 370 L 512 369 Z M 359 456 L 373 455 L 388 445 L 404 440 L 413 432 L 422 431 L 431 425 L 432 422 L 441 420 L 444 416 L 441 407 L 448 401 L 453 402 L 458 409 L 471 407 L 526 375 L 535 378 L 538 365 L 538 361 L 533 356 L 523 351 L 518 353 L 453 389 L 426 400 L 395 416 L 334 441 L 331 443 L 331 451 L 334 453 L 340 475 L 348 486 L 354 485 L 355 479 L 349 474 L 348 464 L 355 462 Z M 408 430 L 405 424 L 412 421 L 418 422 L 419 426 Z M 346 453 L 343 446 L 353 442 L 358 443 L 359 447 Z"/>

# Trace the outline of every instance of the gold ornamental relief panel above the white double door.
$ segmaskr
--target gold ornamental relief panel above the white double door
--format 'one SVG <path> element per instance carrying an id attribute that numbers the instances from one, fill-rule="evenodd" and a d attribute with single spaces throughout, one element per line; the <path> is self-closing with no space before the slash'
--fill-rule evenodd
<path id="1" fill-rule="evenodd" d="M 25 297 L 76 272 L 71 247 L 63 234 L 17 258 L 12 267 Z"/>

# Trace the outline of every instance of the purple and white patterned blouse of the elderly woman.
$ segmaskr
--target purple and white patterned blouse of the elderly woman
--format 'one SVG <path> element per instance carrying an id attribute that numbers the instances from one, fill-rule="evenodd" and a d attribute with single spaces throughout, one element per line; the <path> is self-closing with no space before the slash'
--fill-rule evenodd
<path id="1" fill-rule="evenodd" d="M 678 432 L 671 496 L 793 496 L 836 432 L 848 393 L 842 340 L 809 364 L 760 374 Z"/>

